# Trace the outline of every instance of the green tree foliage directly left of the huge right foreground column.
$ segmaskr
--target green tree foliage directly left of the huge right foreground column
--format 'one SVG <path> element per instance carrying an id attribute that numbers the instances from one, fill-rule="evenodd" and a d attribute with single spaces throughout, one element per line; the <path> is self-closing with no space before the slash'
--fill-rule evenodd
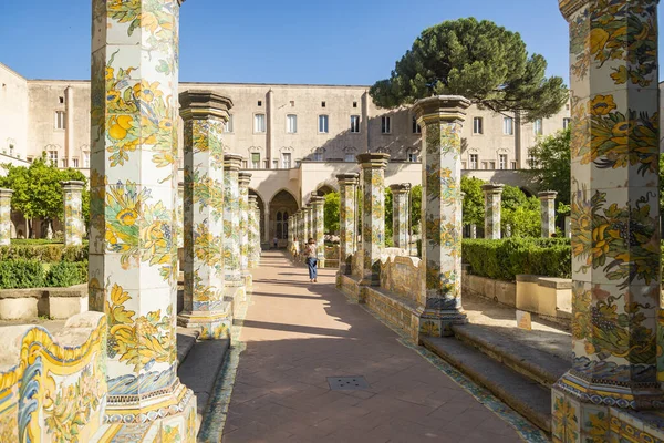
<path id="1" fill-rule="evenodd" d="M 568 128 L 541 138 L 530 150 L 532 168 L 521 171 L 538 190 L 556 190 L 564 205 L 570 204 L 570 135 Z"/>

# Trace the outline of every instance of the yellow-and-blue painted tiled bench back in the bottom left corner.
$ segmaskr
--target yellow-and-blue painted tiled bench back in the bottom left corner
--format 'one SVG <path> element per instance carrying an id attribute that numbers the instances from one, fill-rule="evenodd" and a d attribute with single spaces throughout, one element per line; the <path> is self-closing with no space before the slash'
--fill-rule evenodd
<path id="1" fill-rule="evenodd" d="M 0 328 L 0 442 L 87 442 L 106 408 L 106 317 L 70 318 L 55 336 Z"/>

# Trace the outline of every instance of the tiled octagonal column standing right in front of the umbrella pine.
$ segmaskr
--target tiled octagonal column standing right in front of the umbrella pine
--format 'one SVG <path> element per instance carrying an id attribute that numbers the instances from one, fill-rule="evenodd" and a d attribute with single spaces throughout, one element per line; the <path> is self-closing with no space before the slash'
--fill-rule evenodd
<path id="1" fill-rule="evenodd" d="M 419 100 L 422 126 L 422 260 L 425 310 L 422 334 L 452 334 L 465 323 L 461 308 L 461 127 L 470 102 L 458 95 Z"/>

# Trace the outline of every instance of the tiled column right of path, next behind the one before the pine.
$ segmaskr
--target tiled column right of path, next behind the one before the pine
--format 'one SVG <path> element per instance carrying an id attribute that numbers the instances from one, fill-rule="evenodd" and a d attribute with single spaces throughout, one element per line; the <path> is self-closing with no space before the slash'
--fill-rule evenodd
<path id="1" fill-rule="evenodd" d="M 357 155 L 362 168 L 362 269 L 361 285 L 377 286 L 377 266 L 385 249 L 385 168 L 390 154 Z"/>

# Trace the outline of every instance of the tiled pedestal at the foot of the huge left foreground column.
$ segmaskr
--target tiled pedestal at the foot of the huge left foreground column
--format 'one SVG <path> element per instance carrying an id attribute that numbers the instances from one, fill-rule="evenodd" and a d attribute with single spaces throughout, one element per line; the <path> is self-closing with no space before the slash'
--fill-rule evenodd
<path id="1" fill-rule="evenodd" d="M 105 424 L 91 442 L 195 443 L 200 423 L 194 392 L 179 383 L 175 391 L 141 410 L 122 403 L 107 404 Z"/>

